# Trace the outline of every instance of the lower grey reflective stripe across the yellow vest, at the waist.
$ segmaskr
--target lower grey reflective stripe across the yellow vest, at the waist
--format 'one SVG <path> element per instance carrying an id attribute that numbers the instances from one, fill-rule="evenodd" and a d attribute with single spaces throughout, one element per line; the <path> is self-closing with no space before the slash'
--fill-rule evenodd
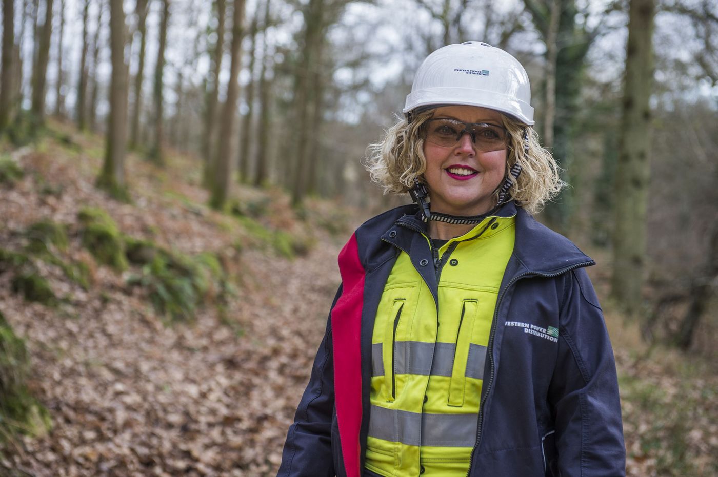
<path id="1" fill-rule="evenodd" d="M 369 435 L 406 445 L 473 447 L 477 414 L 419 414 L 372 406 Z"/>

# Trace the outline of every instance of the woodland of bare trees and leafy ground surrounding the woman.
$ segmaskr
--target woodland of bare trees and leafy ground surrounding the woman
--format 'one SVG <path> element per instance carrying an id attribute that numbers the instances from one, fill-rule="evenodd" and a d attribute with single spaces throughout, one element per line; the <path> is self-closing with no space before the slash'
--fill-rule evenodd
<path id="1" fill-rule="evenodd" d="M 0 476 L 274 476 L 430 52 L 531 79 L 629 476 L 718 475 L 718 3 L 1 0 Z"/>

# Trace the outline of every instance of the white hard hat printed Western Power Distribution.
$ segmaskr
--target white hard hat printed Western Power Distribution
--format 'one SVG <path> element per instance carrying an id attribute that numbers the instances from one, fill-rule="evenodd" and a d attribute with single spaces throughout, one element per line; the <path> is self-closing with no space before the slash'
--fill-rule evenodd
<path id="1" fill-rule="evenodd" d="M 426 57 L 402 111 L 408 115 L 422 106 L 454 104 L 494 109 L 528 126 L 534 123 L 526 70 L 503 49 L 484 42 L 449 44 Z"/>

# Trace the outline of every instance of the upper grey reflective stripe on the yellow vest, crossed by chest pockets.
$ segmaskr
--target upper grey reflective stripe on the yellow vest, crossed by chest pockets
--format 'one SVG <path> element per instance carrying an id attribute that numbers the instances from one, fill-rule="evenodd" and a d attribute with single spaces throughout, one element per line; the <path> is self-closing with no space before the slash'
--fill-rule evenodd
<path id="1" fill-rule="evenodd" d="M 394 344 L 394 366 L 396 374 L 422 374 L 424 376 L 451 376 L 454 367 L 453 343 L 424 343 L 422 341 L 396 341 Z M 381 357 L 381 343 L 371 345 L 372 376 L 384 375 Z M 432 349 L 434 361 L 432 362 Z M 486 346 L 471 344 L 466 363 L 466 376 L 483 379 Z M 408 363 L 408 364 L 407 364 Z"/>

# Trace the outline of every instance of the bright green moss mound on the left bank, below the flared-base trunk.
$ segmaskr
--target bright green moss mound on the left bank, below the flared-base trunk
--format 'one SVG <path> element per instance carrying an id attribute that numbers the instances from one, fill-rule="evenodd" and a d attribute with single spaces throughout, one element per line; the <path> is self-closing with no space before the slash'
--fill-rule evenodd
<path id="1" fill-rule="evenodd" d="M 125 246 L 117 224 L 103 209 L 85 207 L 78 212 L 83 246 L 98 263 L 126 270 Z"/>

